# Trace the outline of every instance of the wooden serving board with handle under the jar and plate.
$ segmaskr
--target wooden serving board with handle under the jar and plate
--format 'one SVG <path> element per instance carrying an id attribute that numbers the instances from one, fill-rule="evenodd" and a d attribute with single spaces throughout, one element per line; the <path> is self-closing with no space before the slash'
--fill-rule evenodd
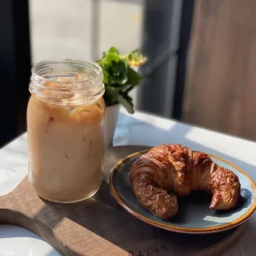
<path id="1" fill-rule="evenodd" d="M 111 196 L 111 168 L 140 146 L 109 147 L 102 187 L 92 198 L 74 204 L 40 199 L 28 178 L 0 197 L 0 222 L 20 225 L 39 235 L 63 255 L 220 255 L 239 238 L 244 225 L 212 235 L 183 235 L 160 230 L 124 211 Z"/>

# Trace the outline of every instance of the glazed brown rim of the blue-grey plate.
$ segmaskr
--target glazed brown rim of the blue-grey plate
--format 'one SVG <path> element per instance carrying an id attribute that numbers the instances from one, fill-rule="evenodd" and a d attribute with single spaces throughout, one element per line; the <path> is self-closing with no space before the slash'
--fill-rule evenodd
<path id="1" fill-rule="evenodd" d="M 178 232 L 178 233 L 186 233 L 186 234 L 206 234 L 207 233 L 207 234 L 209 234 L 209 233 L 216 233 L 216 232 L 220 232 L 220 231 L 230 230 L 232 228 L 235 228 L 238 225 L 243 224 L 246 220 L 249 219 L 250 216 L 253 215 L 254 211 L 256 210 L 256 197 L 255 197 L 255 195 L 256 195 L 256 183 L 254 183 L 254 180 L 249 176 L 249 174 L 245 173 L 242 168 L 239 168 L 237 165 L 232 164 L 229 161 L 220 158 L 219 156 L 216 156 L 216 155 L 213 155 L 213 154 L 208 154 L 211 158 L 220 160 L 221 162 L 223 162 L 225 164 L 229 164 L 231 167 L 235 168 L 239 173 L 242 173 L 244 176 L 246 176 L 249 179 L 249 183 L 250 183 L 251 187 L 253 188 L 252 192 L 254 194 L 254 200 L 251 203 L 251 206 L 249 207 L 248 211 L 246 211 L 243 216 L 239 216 L 239 218 L 237 218 L 233 221 L 230 221 L 229 223 L 225 223 L 225 224 L 218 225 L 218 226 L 211 226 L 211 227 L 207 227 L 207 228 L 191 228 L 191 227 L 178 227 L 178 226 L 175 226 L 175 225 L 167 225 L 167 224 L 164 224 L 164 223 L 160 223 L 159 221 L 152 220 L 149 217 L 140 214 L 138 211 L 135 211 L 135 209 L 128 206 L 126 204 L 126 201 L 124 201 L 120 197 L 119 192 L 116 191 L 116 188 L 113 185 L 113 175 L 116 173 L 116 171 L 119 168 L 121 168 L 121 166 L 123 164 L 128 162 L 131 158 L 134 158 L 136 155 L 139 155 L 139 154 L 145 154 L 148 151 L 149 151 L 149 149 L 137 151 L 137 152 L 135 152 L 133 154 L 129 154 L 125 158 L 121 159 L 112 168 L 111 175 L 110 175 L 110 178 L 109 178 L 109 184 L 110 184 L 110 190 L 111 190 L 112 196 L 116 199 L 118 204 L 124 210 L 129 212 L 132 216 L 135 216 L 137 219 L 142 220 L 142 221 L 144 221 L 144 222 L 146 222 L 150 225 L 154 225 L 156 227 L 159 227 L 161 229 L 170 230 L 170 231 L 174 231 L 174 232 Z"/>

